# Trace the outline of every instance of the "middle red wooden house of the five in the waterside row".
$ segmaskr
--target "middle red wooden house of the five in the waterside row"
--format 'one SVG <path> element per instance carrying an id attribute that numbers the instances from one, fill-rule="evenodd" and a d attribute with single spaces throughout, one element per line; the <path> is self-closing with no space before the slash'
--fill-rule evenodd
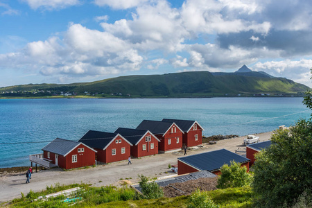
<path id="1" fill-rule="evenodd" d="M 149 130 L 118 128 L 114 133 L 120 134 L 132 144 L 131 155 L 133 157 L 158 154 L 158 143 L 160 140 Z"/>

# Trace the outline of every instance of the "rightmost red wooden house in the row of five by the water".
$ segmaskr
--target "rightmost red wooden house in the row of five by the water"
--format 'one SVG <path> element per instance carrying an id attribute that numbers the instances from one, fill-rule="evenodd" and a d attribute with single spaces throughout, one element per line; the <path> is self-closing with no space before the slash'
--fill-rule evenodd
<path id="1" fill-rule="evenodd" d="M 164 122 L 174 122 L 184 132 L 183 146 L 196 146 L 202 144 L 202 131 L 204 128 L 197 121 L 162 119 Z"/>

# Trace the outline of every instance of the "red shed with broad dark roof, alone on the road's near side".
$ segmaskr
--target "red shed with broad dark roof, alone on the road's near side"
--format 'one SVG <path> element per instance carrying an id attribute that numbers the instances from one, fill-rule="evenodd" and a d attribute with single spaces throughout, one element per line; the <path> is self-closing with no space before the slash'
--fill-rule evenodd
<path id="1" fill-rule="evenodd" d="M 230 165 L 232 161 L 246 166 L 249 171 L 250 159 L 221 149 L 197 155 L 177 158 L 177 175 L 193 173 L 197 171 L 210 171 L 216 175 L 220 174 L 220 168 L 224 164 Z"/>

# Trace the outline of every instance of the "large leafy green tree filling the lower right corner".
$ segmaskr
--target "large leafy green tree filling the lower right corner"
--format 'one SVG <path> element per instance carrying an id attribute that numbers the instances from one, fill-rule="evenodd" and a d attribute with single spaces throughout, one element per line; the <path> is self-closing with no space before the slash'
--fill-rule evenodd
<path id="1" fill-rule="evenodd" d="M 252 187 L 260 207 L 292 205 L 312 187 L 312 122 L 276 130 L 272 145 L 256 155 Z"/>

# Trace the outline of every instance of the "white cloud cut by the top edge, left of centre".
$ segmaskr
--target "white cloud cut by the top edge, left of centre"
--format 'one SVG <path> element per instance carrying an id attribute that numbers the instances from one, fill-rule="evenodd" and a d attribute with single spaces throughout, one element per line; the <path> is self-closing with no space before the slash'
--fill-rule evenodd
<path id="1" fill-rule="evenodd" d="M 114 9 L 128 9 L 137 7 L 148 0 L 94 0 L 98 6 L 110 6 Z"/>

